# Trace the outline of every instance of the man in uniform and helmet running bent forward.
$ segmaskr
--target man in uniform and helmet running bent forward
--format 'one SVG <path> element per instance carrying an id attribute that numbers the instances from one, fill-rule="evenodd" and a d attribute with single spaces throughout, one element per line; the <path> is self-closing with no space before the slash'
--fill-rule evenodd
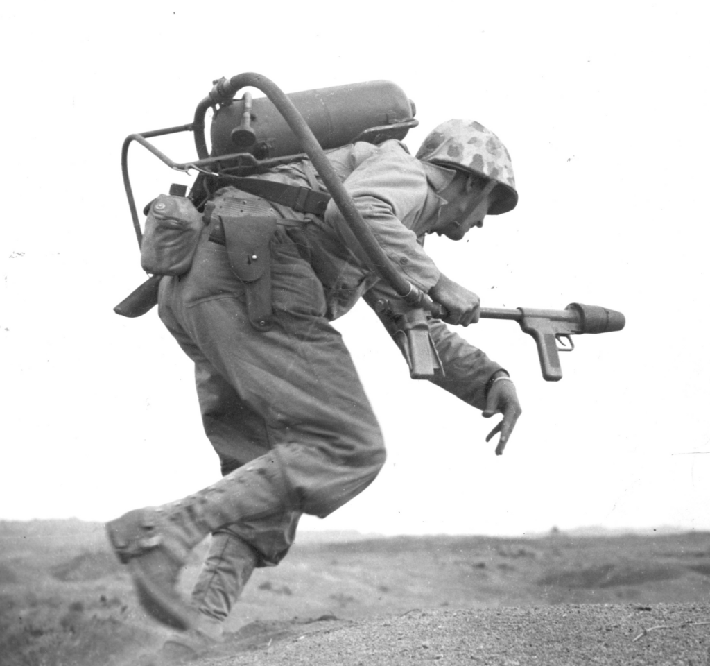
<path id="1" fill-rule="evenodd" d="M 510 155 L 498 137 L 479 123 L 451 120 L 427 136 L 416 158 L 395 140 L 355 143 L 328 157 L 391 260 L 447 308 L 444 321 L 478 321 L 479 297 L 447 278 L 422 241 L 432 233 L 462 239 L 486 214 L 515 207 Z M 259 178 L 324 190 L 309 160 Z M 368 270 L 334 202 L 322 215 L 299 213 L 234 187 L 213 201 L 280 216 L 269 245 L 273 327 L 254 324 L 253 299 L 231 271 L 228 248 L 209 240 L 211 222 L 190 271 L 163 278 L 159 315 L 195 362 L 204 430 L 223 478 L 107 525 L 146 611 L 182 630 L 164 648 L 173 660 L 219 640 L 254 567 L 283 559 L 303 513 L 324 518 L 363 491 L 385 462 L 376 417 L 329 321 L 361 296 L 374 306 L 396 295 Z M 394 334 L 391 320 L 381 318 Z M 443 369 L 432 381 L 486 417 L 503 415 L 486 437 L 500 433 L 501 454 L 520 415 L 513 381 L 443 322 L 429 320 L 428 327 Z M 175 582 L 187 554 L 209 534 L 187 604 Z"/>

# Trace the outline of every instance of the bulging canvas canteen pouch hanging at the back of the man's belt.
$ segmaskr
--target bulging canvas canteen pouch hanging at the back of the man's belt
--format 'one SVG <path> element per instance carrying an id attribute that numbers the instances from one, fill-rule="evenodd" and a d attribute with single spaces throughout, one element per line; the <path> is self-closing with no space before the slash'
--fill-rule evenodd
<path id="1" fill-rule="evenodd" d="M 153 275 L 185 275 L 202 231 L 202 214 L 187 197 L 158 195 L 148 204 L 141 267 Z"/>

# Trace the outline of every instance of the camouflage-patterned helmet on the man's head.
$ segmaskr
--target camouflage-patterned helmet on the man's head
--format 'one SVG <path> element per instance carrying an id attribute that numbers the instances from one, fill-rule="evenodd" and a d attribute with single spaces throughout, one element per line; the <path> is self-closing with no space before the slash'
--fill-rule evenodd
<path id="1" fill-rule="evenodd" d="M 476 121 L 448 120 L 440 124 L 425 138 L 417 158 L 498 182 L 489 215 L 507 213 L 518 203 L 510 153 L 491 130 Z"/>

